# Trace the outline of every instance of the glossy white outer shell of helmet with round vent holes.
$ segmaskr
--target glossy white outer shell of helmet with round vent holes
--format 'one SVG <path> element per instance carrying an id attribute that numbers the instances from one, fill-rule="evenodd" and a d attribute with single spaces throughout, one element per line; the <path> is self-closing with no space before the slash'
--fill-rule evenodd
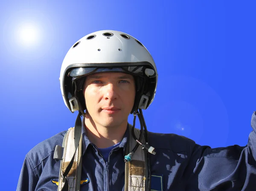
<path id="1" fill-rule="evenodd" d="M 155 71 L 154 92 L 145 109 L 153 102 L 157 88 L 157 68 L 148 50 L 129 34 L 102 30 L 90 33 L 78 40 L 67 52 L 61 65 L 60 86 L 65 105 L 70 111 L 67 86 L 68 72 L 77 67 L 119 67 L 147 63 Z M 152 89 L 152 88 L 151 88 Z"/>

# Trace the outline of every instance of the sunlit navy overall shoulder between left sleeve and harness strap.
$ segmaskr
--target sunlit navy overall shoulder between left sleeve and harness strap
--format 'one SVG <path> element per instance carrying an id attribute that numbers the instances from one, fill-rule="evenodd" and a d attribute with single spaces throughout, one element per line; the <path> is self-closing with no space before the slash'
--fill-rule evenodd
<path id="1" fill-rule="evenodd" d="M 32 168 L 35 168 L 36 166 L 41 164 L 43 160 L 52 155 L 55 151 L 56 145 L 62 146 L 62 142 L 66 132 L 67 131 L 62 131 L 42 141 L 41 143 L 38 143 L 26 154 L 26 158 L 27 160 L 29 160 Z"/>

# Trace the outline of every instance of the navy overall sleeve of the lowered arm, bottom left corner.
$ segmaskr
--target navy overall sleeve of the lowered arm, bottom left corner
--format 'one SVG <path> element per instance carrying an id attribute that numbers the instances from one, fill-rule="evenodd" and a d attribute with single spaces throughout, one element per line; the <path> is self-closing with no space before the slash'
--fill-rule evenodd
<path id="1" fill-rule="evenodd" d="M 35 176 L 29 160 L 26 157 L 20 171 L 20 177 L 16 191 L 35 191 L 37 182 L 38 177 Z"/>

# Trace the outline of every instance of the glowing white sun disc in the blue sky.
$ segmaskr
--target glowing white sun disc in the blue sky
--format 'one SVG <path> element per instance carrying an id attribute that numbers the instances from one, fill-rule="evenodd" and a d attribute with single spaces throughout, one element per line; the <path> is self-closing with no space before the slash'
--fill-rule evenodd
<path id="1" fill-rule="evenodd" d="M 18 28 L 18 39 L 23 46 L 33 46 L 38 43 L 39 31 L 31 23 L 24 23 Z"/>

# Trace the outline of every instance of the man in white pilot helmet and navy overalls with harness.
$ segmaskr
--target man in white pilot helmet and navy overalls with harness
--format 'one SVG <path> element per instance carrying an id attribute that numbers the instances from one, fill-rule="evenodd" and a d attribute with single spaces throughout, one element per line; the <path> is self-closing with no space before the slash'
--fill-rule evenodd
<path id="1" fill-rule="evenodd" d="M 256 189 L 256 112 L 244 147 L 212 149 L 147 131 L 142 109 L 154 100 L 157 68 L 134 37 L 108 30 L 81 38 L 64 58 L 60 83 L 67 108 L 79 111 L 70 138 L 75 146 L 63 151 L 64 131 L 32 148 L 17 191 L 72 190 L 70 171 L 81 191 Z M 128 124 L 129 114 L 139 117 L 140 131 Z"/>

